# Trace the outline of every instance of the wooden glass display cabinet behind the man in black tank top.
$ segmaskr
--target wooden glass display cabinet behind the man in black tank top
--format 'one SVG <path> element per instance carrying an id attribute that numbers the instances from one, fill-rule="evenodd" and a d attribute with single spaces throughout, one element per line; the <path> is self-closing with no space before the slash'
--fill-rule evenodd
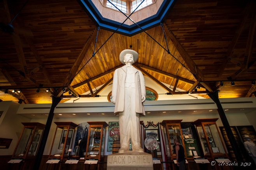
<path id="1" fill-rule="evenodd" d="M 161 125 L 163 125 L 164 127 L 164 132 L 165 132 L 165 139 L 166 139 L 166 143 L 168 143 L 169 145 L 167 146 L 167 156 L 168 159 L 173 161 L 174 159 L 176 159 L 175 156 L 175 144 L 174 144 L 174 139 L 177 138 L 179 140 L 179 143 L 183 145 L 183 148 L 185 148 L 185 144 L 183 141 L 183 135 L 182 135 L 182 131 L 181 131 L 181 121 L 180 120 L 163 120 L 163 122 L 161 122 Z M 185 158 L 186 157 L 186 149 L 184 149 L 184 153 L 185 153 Z"/>

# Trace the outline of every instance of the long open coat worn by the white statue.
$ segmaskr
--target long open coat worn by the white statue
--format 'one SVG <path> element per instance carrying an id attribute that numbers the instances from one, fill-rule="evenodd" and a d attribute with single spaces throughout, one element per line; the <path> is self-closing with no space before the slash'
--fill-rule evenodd
<path id="1" fill-rule="evenodd" d="M 134 68 L 135 69 L 135 68 Z M 114 72 L 112 84 L 112 96 L 116 96 L 116 106 L 114 114 L 124 111 L 124 83 L 126 78 L 126 65 L 118 68 Z M 135 69 L 135 112 L 145 116 L 143 103 L 141 102 L 141 95 L 146 96 L 146 86 L 143 74 L 140 70 Z"/>

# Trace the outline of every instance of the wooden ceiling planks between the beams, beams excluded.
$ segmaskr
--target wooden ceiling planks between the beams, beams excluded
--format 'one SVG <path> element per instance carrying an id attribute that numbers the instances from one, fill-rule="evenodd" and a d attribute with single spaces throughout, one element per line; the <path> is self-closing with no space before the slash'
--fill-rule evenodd
<path id="1" fill-rule="evenodd" d="M 16 13 L 24 3 L 25 0 L 19 2 L 13 1 L 12 6 L 14 13 Z M 193 62 L 195 62 L 196 66 L 202 71 L 203 76 L 207 78 L 217 77 L 223 60 L 225 59 L 224 57 L 227 53 L 228 46 L 243 18 L 246 3 L 247 1 L 239 0 L 210 0 L 207 2 L 200 0 L 177 1 L 165 20 L 165 24 L 167 24 L 168 28 L 174 33 L 184 50 L 188 52 L 188 55 L 192 58 Z M 42 64 L 49 74 L 49 79 L 51 79 L 54 84 L 63 83 L 86 40 L 96 27 L 75 0 L 64 0 L 61 2 L 55 0 L 33 0 L 21 11 L 17 20 L 18 19 L 22 19 L 24 27 L 28 27 L 32 31 L 32 43 L 35 47 L 34 51 L 36 50 L 38 52 L 38 57 L 41 58 Z M 235 60 L 241 63 L 244 62 L 251 21 L 252 15 L 251 12 L 249 12 L 244 29 L 238 37 L 237 43 L 230 55 L 234 60 L 227 62 L 222 77 L 229 77 L 240 69 L 240 67 L 235 64 Z M 163 31 L 160 26 L 147 30 L 147 33 L 167 49 Z M 96 52 L 111 34 L 112 32 L 110 31 L 99 30 L 96 47 L 95 39 L 93 39 L 78 70 L 92 57 L 94 47 Z M 31 45 L 26 41 L 26 37 L 23 36 L 23 34 L 19 34 L 19 36 L 28 72 L 31 72 L 33 69 L 39 67 L 40 63 L 34 56 Z M 168 36 L 167 43 L 170 53 L 188 68 L 188 65 L 184 62 L 181 54 Z M 95 57 L 79 72 L 71 85 L 74 86 L 88 80 L 88 76 L 89 78 L 96 77 L 122 65 L 119 61 L 119 53 L 124 49 L 129 49 L 130 45 L 132 45 L 133 50 L 139 53 L 139 59 L 137 61 L 139 64 L 173 75 L 175 75 L 179 69 L 177 76 L 194 82 L 196 81 L 195 77 L 193 77 L 186 68 L 182 67 L 182 64 L 177 62 L 177 60 L 169 55 L 161 46 L 153 41 L 153 39 L 147 36 L 146 33 L 142 32 L 132 37 L 114 34 L 96 53 Z M 5 60 L 17 70 L 22 69 L 18 62 L 18 55 L 12 35 L 2 34 L 0 36 L 0 50 L 2 60 Z M 253 61 L 256 59 L 255 42 L 252 43 L 251 52 L 251 61 Z M 2 65 L 14 81 L 26 81 L 26 79 L 10 65 L 6 63 L 2 63 Z M 152 70 L 144 70 L 160 82 L 171 84 L 173 81 L 172 77 L 163 76 Z M 256 66 L 254 64 L 249 70 L 239 76 L 255 77 L 255 70 Z M 42 70 L 37 71 L 34 77 L 40 83 L 47 82 Z M 93 84 L 95 87 L 101 86 L 112 77 L 113 72 L 93 80 Z M 91 82 L 90 84 L 91 87 L 94 88 Z M 174 84 L 175 80 L 172 86 L 174 86 Z M 31 83 L 19 82 L 17 85 L 27 85 L 30 87 Z M 191 86 L 192 84 L 183 81 L 179 81 L 177 84 L 177 88 L 185 91 L 188 91 Z M 243 82 L 235 81 L 235 86 L 231 86 L 230 83 L 228 83 L 221 88 L 219 97 L 244 97 L 250 89 L 251 80 Z M 51 103 L 51 98 L 48 93 L 45 93 L 43 90 L 41 90 L 40 93 L 36 93 L 35 91 L 36 89 L 32 89 L 24 90 L 23 92 L 30 103 Z M 79 94 L 83 94 L 89 91 L 89 88 L 87 84 L 84 84 L 76 87 L 75 91 Z M 200 94 L 200 96 L 209 98 L 209 96 L 204 94 Z M 0 99 L 2 100 L 8 100 L 10 98 L 12 97 L 7 94 L 0 94 Z M 68 99 L 65 99 L 61 102 L 67 100 Z M 15 101 L 17 100 L 15 99 Z"/>

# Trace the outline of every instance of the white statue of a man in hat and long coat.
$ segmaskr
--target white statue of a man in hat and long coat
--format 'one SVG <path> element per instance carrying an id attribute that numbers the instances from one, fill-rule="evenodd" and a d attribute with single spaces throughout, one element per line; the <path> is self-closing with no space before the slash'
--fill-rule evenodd
<path id="1" fill-rule="evenodd" d="M 130 139 L 133 151 L 144 152 L 140 144 L 140 115 L 145 116 L 146 86 L 142 72 L 132 66 L 138 58 L 134 50 L 123 50 L 119 59 L 125 65 L 114 72 L 112 103 L 115 104 L 114 114 L 119 115 L 121 148 L 118 153 L 130 149 Z"/>

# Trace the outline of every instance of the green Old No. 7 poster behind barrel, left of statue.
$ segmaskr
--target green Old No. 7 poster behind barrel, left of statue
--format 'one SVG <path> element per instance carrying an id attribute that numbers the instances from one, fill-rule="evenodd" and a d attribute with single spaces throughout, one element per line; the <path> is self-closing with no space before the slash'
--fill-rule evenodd
<path id="1" fill-rule="evenodd" d="M 107 152 L 112 152 L 112 145 L 116 135 L 120 135 L 119 122 L 109 122 Z"/>

